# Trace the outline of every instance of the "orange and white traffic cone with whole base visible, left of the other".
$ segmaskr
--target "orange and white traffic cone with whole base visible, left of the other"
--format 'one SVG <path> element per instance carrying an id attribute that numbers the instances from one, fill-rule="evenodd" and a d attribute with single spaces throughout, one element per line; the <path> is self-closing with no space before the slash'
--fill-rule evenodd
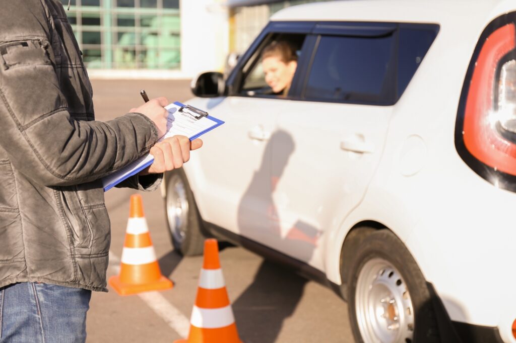
<path id="1" fill-rule="evenodd" d="M 119 295 L 172 288 L 172 281 L 159 270 L 139 194 L 131 196 L 121 260 L 120 275 L 109 278 Z"/>

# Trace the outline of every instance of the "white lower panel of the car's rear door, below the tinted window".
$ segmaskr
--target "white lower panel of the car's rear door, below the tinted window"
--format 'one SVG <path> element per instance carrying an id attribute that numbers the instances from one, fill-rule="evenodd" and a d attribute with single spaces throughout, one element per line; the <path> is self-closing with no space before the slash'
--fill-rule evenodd
<path id="1" fill-rule="evenodd" d="M 289 101 L 275 141 L 272 197 L 282 239 L 276 248 L 325 269 L 326 234 L 362 200 L 380 161 L 392 107 Z M 330 244 L 333 244 L 330 242 Z"/>

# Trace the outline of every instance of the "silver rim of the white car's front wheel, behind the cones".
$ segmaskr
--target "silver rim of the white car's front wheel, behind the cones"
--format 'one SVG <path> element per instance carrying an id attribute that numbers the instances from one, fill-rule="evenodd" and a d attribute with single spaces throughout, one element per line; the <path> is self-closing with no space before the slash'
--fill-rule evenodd
<path id="1" fill-rule="evenodd" d="M 188 198 L 183 180 L 173 175 L 167 182 L 168 227 L 174 242 L 181 245 L 186 236 Z"/>

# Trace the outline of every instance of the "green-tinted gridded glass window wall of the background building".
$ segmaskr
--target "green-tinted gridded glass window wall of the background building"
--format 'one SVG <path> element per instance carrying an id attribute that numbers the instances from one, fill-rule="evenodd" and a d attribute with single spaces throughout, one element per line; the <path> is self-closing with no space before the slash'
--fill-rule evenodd
<path id="1" fill-rule="evenodd" d="M 179 0 L 72 0 L 66 12 L 88 68 L 181 66 Z"/>

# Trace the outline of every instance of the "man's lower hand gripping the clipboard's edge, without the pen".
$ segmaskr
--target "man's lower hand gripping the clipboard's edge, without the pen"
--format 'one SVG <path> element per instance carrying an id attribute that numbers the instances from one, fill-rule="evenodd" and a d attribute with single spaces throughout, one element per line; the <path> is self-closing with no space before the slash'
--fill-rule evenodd
<path id="1" fill-rule="evenodd" d="M 199 149 L 201 146 L 202 141 L 200 139 L 190 142 L 188 137 L 182 135 L 167 138 L 151 148 L 150 153 L 154 156 L 154 162 L 148 168 L 140 171 L 139 174 L 157 174 L 181 168 L 183 163 L 190 159 L 190 150 Z"/>

